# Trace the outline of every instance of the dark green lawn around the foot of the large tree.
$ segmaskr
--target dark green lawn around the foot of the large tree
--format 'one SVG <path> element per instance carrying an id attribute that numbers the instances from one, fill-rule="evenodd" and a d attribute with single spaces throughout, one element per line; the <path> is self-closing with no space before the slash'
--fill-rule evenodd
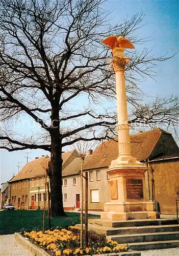
<path id="1" fill-rule="evenodd" d="M 67 227 L 80 223 L 80 213 L 66 212 L 67 217 L 53 218 L 51 227 Z M 89 219 L 100 218 L 97 215 L 89 215 Z M 14 210 L 0 211 L 0 234 L 10 234 L 22 230 L 41 230 L 43 223 L 42 210 Z M 48 229 L 46 212 L 45 229 Z"/>

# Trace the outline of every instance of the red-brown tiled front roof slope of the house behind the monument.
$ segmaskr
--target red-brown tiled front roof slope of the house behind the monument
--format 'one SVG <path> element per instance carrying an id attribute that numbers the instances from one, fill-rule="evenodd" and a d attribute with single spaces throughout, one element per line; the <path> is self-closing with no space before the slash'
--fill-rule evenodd
<path id="1" fill-rule="evenodd" d="M 146 160 L 154 150 L 162 133 L 162 129 L 153 129 L 142 133 L 130 135 L 132 155 L 139 161 Z M 117 140 L 108 140 L 101 143 L 90 155 L 84 169 L 107 167 L 112 160 L 118 157 Z"/>

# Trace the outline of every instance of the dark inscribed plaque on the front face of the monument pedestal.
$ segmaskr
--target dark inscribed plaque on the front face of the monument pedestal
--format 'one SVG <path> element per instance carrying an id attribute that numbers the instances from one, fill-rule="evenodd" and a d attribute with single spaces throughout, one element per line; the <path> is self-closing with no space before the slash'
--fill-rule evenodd
<path id="1" fill-rule="evenodd" d="M 141 179 L 126 179 L 127 199 L 143 198 L 143 184 Z"/>

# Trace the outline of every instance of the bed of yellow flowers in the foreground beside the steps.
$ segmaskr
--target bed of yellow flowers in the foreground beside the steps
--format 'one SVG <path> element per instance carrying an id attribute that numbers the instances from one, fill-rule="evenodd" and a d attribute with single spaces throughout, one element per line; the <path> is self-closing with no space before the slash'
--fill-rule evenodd
<path id="1" fill-rule="evenodd" d="M 71 255 L 93 255 L 102 253 L 114 253 L 127 251 L 129 247 L 119 246 L 117 242 L 112 240 L 105 240 L 104 246 L 95 247 L 93 243 L 86 249 L 81 250 L 80 247 L 80 231 L 74 227 L 67 229 L 55 229 L 53 231 L 24 232 L 24 236 L 29 238 L 32 242 L 48 251 L 53 256 L 71 256 Z M 96 236 L 99 236 L 96 234 Z M 99 244 L 96 244 L 99 245 Z M 101 244 L 102 245 L 102 244 Z"/>

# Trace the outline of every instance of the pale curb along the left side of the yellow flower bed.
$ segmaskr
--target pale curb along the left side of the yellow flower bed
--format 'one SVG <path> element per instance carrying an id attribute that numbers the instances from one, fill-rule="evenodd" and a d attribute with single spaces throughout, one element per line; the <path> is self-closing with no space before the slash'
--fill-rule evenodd
<path id="1" fill-rule="evenodd" d="M 27 238 L 24 238 L 20 233 L 14 233 L 15 239 L 26 249 L 28 249 L 33 256 L 49 256 L 43 249 L 31 243 Z"/>

